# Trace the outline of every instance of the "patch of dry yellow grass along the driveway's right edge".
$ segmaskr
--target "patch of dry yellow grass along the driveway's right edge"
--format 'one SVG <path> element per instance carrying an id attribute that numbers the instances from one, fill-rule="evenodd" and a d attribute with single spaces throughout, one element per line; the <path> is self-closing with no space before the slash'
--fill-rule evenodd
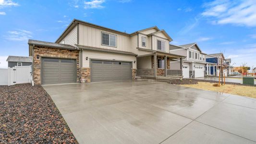
<path id="1" fill-rule="evenodd" d="M 256 98 L 255 86 L 244 86 L 235 84 L 220 84 L 220 86 L 213 86 L 213 84 L 214 83 L 198 82 L 198 84 L 183 84 L 182 86 Z"/>

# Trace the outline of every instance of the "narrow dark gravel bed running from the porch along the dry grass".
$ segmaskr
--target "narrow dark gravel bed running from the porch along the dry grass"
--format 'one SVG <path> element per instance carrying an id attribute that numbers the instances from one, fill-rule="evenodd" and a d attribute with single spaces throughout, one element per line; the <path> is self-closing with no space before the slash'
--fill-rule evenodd
<path id="1" fill-rule="evenodd" d="M 172 79 L 172 80 L 170 80 L 170 84 L 198 84 L 198 82 L 219 83 L 219 81 L 200 80 L 200 79 Z M 221 84 L 221 82 L 220 82 L 220 84 Z M 247 85 L 247 84 L 239 84 L 239 83 L 231 83 L 231 82 L 226 82 L 225 84 L 256 86 L 256 85 Z"/>

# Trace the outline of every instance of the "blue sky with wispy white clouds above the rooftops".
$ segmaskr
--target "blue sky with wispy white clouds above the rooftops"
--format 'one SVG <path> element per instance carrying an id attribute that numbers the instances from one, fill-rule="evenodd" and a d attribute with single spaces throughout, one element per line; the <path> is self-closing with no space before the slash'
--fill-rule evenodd
<path id="1" fill-rule="evenodd" d="M 0 67 L 28 56 L 28 39 L 54 42 L 74 18 L 127 33 L 157 25 L 171 44 L 256 66 L 256 0 L 0 0 Z"/>

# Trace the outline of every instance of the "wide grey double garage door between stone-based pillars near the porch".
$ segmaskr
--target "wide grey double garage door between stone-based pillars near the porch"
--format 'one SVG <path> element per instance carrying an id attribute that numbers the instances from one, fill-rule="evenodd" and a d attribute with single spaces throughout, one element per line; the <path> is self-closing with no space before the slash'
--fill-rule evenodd
<path id="1" fill-rule="evenodd" d="M 91 60 L 91 81 L 120 81 L 132 79 L 132 63 Z"/>

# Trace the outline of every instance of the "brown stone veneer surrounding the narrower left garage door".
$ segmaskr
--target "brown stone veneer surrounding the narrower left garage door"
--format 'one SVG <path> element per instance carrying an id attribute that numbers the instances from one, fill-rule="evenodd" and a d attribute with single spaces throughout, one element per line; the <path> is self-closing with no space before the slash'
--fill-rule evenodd
<path id="1" fill-rule="evenodd" d="M 37 59 L 37 55 L 40 56 Z M 60 49 L 60 48 L 49 48 L 49 47 L 34 47 L 34 64 L 33 64 L 33 77 L 35 84 L 41 84 L 41 58 L 66 58 L 66 59 L 76 59 L 77 67 L 77 83 L 79 82 L 80 69 L 79 69 L 79 52 L 78 50 Z"/>

